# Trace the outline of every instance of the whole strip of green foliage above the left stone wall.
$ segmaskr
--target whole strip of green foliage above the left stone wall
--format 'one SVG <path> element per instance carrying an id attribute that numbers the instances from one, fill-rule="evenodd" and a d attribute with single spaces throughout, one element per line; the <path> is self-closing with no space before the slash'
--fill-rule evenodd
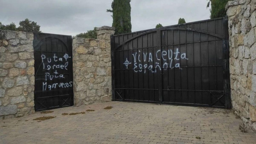
<path id="1" fill-rule="evenodd" d="M 16 25 L 12 22 L 9 25 L 3 25 L 0 22 L 0 29 L 3 30 L 13 30 L 13 31 L 23 31 L 23 32 L 41 32 L 40 26 L 36 22 L 25 19 L 20 21 L 20 26 L 16 28 Z"/>

